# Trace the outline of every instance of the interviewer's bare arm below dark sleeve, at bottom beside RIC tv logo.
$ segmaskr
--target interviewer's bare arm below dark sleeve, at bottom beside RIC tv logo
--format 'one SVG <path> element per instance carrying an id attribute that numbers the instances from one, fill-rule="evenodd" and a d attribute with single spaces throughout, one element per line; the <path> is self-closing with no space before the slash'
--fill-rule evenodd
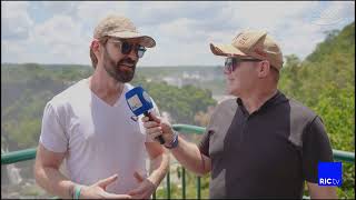
<path id="1" fill-rule="evenodd" d="M 335 187 L 320 187 L 317 183 L 307 182 L 312 199 L 337 199 Z"/>

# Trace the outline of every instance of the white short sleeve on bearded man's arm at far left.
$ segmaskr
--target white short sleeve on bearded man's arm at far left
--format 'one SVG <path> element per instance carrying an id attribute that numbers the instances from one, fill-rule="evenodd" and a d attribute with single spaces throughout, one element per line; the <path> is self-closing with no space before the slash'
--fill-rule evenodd
<path id="1" fill-rule="evenodd" d="M 55 108 L 50 102 L 44 107 L 40 142 L 53 152 L 66 152 L 68 138 Z"/>

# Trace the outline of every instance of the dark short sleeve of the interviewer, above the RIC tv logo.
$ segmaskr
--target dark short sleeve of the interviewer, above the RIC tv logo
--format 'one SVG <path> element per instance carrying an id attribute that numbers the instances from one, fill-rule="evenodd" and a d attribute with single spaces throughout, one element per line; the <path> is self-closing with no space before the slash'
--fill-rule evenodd
<path id="1" fill-rule="evenodd" d="M 318 162 L 332 162 L 333 150 L 325 127 L 316 117 L 303 134 L 303 173 L 308 182 L 318 182 Z"/>

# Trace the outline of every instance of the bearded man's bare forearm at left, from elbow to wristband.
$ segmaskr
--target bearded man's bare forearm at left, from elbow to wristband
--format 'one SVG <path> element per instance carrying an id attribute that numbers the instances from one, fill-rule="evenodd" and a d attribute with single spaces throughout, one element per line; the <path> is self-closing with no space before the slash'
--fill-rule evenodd
<path id="1" fill-rule="evenodd" d="M 43 167 L 36 169 L 36 181 L 46 191 L 63 199 L 71 199 L 75 183 L 58 169 Z"/>

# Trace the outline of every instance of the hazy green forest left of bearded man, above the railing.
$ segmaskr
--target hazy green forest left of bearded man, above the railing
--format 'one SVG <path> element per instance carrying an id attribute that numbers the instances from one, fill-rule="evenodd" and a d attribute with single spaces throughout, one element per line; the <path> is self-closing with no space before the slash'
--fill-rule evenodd
<path id="1" fill-rule="evenodd" d="M 1 64 L 1 144 L 9 151 L 38 144 L 44 104 L 90 68 Z"/>

